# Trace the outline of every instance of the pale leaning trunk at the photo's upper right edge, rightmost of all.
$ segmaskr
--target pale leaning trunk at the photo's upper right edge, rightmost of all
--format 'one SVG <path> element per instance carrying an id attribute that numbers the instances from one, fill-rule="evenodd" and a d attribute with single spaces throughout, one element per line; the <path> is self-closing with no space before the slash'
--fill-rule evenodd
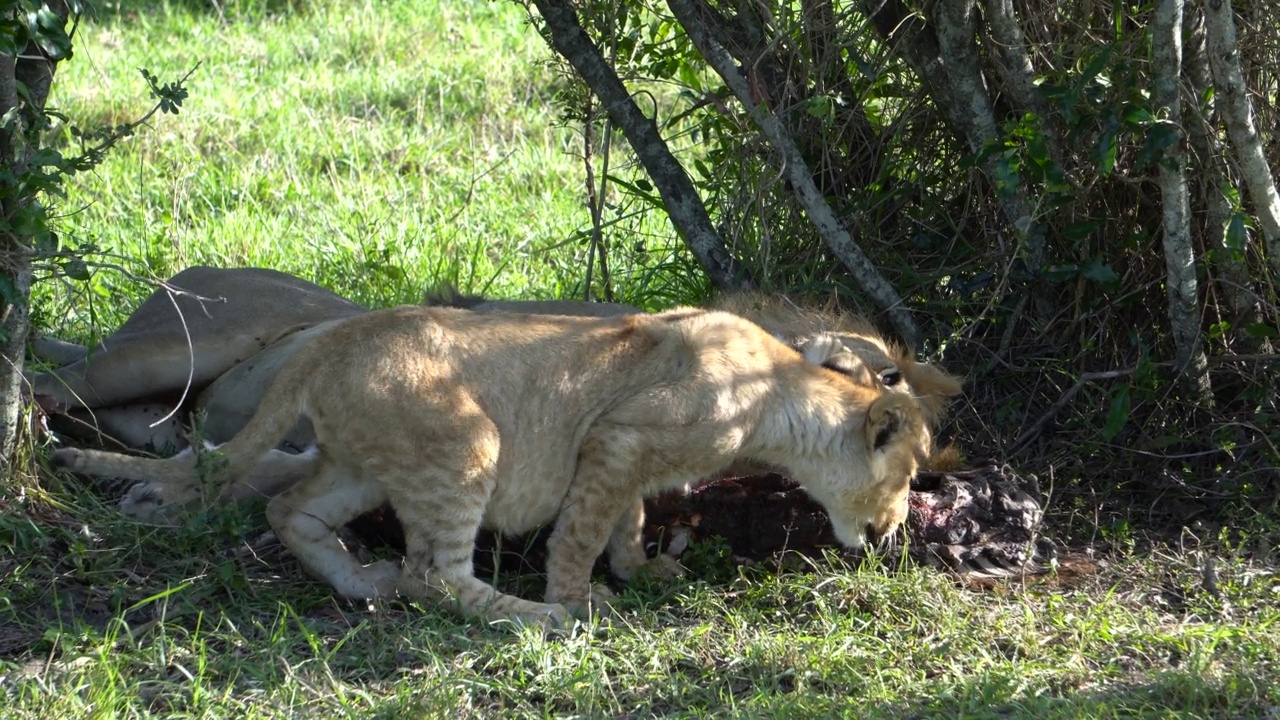
<path id="1" fill-rule="evenodd" d="M 1208 64 L 1213 70 L 1213 97 L 1226 122 L 1226 132 L 1240 159 L 1244 184 L 1249 188 L 1262 237 L 1266 240 L 1271 272 L 1280 274 L 1280 196 L 1275 178 L 1262 152 L 1249 88 L 1240 72 L 1240 51 L 1235 44 L 1235 17 L 1231 0 L 1204 3 L 1204 33 L 1208 44 Z"/>

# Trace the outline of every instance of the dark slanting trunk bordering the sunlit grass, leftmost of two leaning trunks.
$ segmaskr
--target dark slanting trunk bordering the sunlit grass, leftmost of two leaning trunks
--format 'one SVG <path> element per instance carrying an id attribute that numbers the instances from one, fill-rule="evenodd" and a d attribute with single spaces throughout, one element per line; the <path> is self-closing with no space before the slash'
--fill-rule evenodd
<path id="1" fill-rule="evenodd" d="M 626 86 L 604 61 L 599 47 L 582 29 L 572 4 L 568 0 L 534 0 L 534 5 L 550 31 L 552 47 L 582 76 L 613 123 L 627 136 L 627 142 L 658 188 L 672 224 L 689 243 L 712 283 L 719 290 L 751 287 L 746 268 L 730 255 L 724 241 L 712 227 L 701 197 L 662 140 L 658 124 L 644 115 Z"/>

